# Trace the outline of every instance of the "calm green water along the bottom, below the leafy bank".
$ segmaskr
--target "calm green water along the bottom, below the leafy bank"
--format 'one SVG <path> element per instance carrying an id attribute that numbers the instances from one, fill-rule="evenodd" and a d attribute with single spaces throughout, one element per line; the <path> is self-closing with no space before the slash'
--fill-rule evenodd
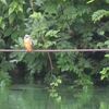
<path id="1" fill-rule="evenodd" d="M 0 88 L 0 109 L 109 109 L 109 88 L 63 87 L 53 94 L 37 86 Z"/>

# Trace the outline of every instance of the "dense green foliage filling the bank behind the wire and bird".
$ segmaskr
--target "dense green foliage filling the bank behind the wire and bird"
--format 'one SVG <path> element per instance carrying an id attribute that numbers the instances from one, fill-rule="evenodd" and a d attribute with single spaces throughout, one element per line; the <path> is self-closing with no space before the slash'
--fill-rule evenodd
<path id="1" fill-rule="evenodd" d="M 109 47 L 108 0 L 0 0 L 0 48 L 22 49 L 29 34 L 35 49 Z M 11 52 L 0 56 L 1 65 L 26 65 L 26 75 L 41 76 L 45 83 L 93 84 L 93 76 L 107 65 L 97 52 Z M 10 64 L 7 65 L 7 64 Z M 10 69 L 9 69 L 10 68 Z M 3 68 L 1 68 L 1 71 Z M 5 75 L 5 74 L 4 74 Z M 71 76 L 70 76 L 71 75 Z M 9 78 L 9 77 L 7 77 Z"/>

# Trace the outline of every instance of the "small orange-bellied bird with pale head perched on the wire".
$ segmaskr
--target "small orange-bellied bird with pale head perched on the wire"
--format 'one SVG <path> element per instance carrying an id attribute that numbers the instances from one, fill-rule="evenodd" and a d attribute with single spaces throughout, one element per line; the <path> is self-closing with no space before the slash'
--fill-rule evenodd
<path id="1" fill-rule="evenodd" d="M 33 51 L 33 41 L 29 35 L 24 36 L 24 46 L 28 52 Z"/>

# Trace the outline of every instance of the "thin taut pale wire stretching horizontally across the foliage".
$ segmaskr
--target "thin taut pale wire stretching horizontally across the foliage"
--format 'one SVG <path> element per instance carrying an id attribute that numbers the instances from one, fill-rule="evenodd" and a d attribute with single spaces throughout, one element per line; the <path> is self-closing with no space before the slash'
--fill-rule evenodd
<path id="1" fill-rule="evenodd" d="M 35 49 L 32 52 L 104 52 L 109 49 Z M 0 49 L 0 52 L 26 52 L 25 49 Z"/>

